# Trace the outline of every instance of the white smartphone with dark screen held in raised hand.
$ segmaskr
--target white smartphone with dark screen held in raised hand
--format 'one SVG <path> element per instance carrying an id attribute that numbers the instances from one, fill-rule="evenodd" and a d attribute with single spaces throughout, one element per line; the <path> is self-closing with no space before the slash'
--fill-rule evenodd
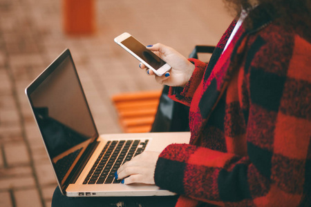
<path id="1" fill-rule="evenodd" d="M 160 57 L 154 54 L 151 50 L 147 50 L 146 46 L 127 32 L 115 37 L 115 43 L 124 48 L 124 50 L 133 55 L 133 57 L 144 63 L 145 66 L 158 76 L 162 76 L 165 72 L 171 69 L 169 64 L 160 59 Z"/>

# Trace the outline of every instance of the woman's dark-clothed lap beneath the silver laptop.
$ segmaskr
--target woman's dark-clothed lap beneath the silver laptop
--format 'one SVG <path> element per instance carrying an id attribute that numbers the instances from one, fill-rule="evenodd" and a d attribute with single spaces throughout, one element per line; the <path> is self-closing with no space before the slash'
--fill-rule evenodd
<path id="1" fill-rule="evenodd" d="M 112 207 L 112 206 L 175 206 L 178 196 L 162 197 L 66 197 L 55 189 L 52 207 Z"/>

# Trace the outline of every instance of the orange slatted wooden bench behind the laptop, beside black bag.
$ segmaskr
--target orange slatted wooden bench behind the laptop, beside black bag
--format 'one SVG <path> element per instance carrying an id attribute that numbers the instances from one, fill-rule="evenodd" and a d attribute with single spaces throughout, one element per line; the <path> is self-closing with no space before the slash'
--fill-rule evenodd
<path id="1" fill-rule="evenodd" d="M 149 132 L 153 124 L 162 90 L 126 92 L 111 99 L 117 110 L 123 132 Z"/>

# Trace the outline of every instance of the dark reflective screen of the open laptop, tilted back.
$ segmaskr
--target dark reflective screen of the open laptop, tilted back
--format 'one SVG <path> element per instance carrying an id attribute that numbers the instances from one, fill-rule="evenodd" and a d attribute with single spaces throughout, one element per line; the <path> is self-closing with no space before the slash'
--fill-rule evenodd
<path id="1" fill-rule="evenodd" d="M 26 90 L 59 184 L 88 144 L 98 137 L 69 50 Z"/>

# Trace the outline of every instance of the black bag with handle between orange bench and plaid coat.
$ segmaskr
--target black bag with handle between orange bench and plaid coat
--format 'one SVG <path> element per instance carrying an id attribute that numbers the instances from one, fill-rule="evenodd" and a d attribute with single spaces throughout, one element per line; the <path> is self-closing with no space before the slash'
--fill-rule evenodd
<path id="1" fill-rule="evenodd" d="M 198 53 L 212 53 L 213 46 L 196 46 L 189 58 L 198 59 Z M 151 132 L 189 131 L 189 107 L 168 97 L 169 86 L 164 86 Z"/>

